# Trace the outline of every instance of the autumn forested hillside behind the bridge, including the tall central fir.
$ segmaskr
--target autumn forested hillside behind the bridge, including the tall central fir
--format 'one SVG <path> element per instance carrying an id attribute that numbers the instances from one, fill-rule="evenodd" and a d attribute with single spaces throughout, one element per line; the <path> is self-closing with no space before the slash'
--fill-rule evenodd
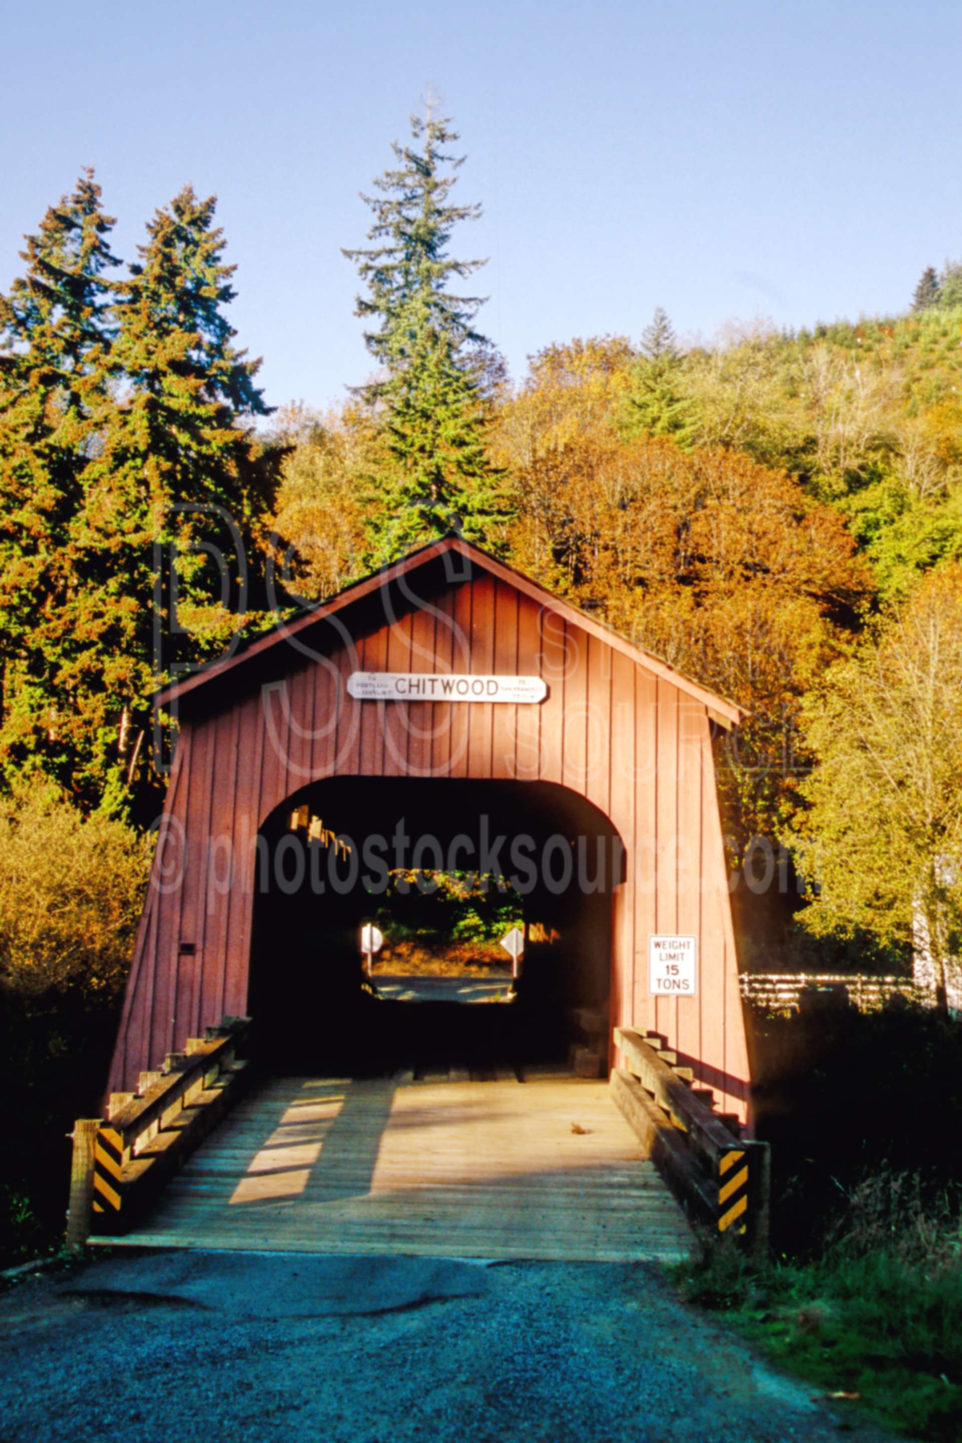
<path id="1" fill-rule="evenodd" d="M 899 965 L 922 906 L 945 968 L 961 900 L 945 859 L 962 848 L 959 268 L 926 270 L 890 319 L 733 325 L 704 343 L 656 310 L 637 338 L 560 341 L 511 378 L 479 300 L 450 296 L 479 263 L 450 254 L 476 211 L 450 202 L 444 127 L 415 121 L 414 146 L 395 146 L 374 245 L 348 253 L 381 369 L 343 405 L 274 423 L 291 590 L 319 599 L 400 535 L 463 530 L 749 710 L 720 747 L 733 887 L 777 877 L 812 899 L 831 876 L 799 921 L 845 965 L 877 947 Z M 867 698 L 906 631 L 923 641 L 883 688 L 906 739 L 894 765 L 893 719 Z M 852 755 L 874 805 L 839 823 L 818 778 Z"/>

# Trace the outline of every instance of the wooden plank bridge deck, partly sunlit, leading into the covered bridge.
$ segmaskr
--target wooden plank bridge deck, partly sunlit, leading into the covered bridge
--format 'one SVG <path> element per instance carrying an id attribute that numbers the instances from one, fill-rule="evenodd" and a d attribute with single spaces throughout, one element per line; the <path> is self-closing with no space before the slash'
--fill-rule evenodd
<path id="1" fill-rule="evenodd" d="M 640 1261 L 684 1257 L 692 1238 L 604 1082 L 499 1072 L 273 1078 L 141 1227 L 91 1241 Z"/>

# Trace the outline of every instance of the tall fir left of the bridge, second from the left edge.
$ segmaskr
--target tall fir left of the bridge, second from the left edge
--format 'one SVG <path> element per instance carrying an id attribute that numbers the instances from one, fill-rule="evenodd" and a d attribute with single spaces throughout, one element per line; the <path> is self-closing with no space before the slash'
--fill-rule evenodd
<path id="1" fill-rule="evenodd" d="M 219 649 L 234 629 L 237 590 L 222 595 L 221 569 L 203 551 L 219 548 L 237 584 L 221 512 L 250 561 L 267 504 L 251 421 L 270 407 L 254 380 L 260 361 L 235 348 L 224 315 L 235 267 L 224 264 L 215 206 L 187 186 L 147 225 L 114 307 L 114 395 L 97 418 L 98 447 L 71 525 L 81 584 L 63 620 L 89 709 L 85 734 L 101 736 L 91 765 L 98 778 L 110 775 L 117 797 L 134 779 L 128 753 L 147 729 L 162 674 L 175 658 L 198 659 L 205 645 Z M 156 560 L 175 547 L 177 616 L 156 618 Z M 160 580 L 169 597 L 170 574 Z M 156 620 L 162 657 L 153 654 Z"/>

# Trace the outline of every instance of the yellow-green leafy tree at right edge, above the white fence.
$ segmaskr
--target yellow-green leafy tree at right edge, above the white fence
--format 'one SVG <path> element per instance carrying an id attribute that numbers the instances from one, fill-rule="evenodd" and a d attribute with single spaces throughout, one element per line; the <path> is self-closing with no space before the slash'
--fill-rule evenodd
<path id="1" fill-rule="evenodd" d="M 962 987 L 961 697 L 956 564 L 813 678 L 803 714 L 816 765 L 793 827 L 805 926 L 906 945 L 922 925 L 942 1006 Z"/>

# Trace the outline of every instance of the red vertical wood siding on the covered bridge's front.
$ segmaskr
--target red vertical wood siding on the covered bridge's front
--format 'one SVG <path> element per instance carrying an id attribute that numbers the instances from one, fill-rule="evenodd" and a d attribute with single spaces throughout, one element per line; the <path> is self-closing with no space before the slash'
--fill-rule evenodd
<path id="1" fill-rule="evenodd" d="M 539 675 L 548 696 L 359 703 L 346 693 L 355 670 Z M 224 1012 L 247 1010 L 258 828 L 291 792 L 333 775 L 555 782 L 593 802 L 627 853 L 613 898 L 612 1025 L 665 1033 L 720 1104 L 746 1115 L 707 707 L 480 570 L 430 606 L 345 632 L 316 659 L 291 651 L 280 681 L 183 724 L 111 1091 Z M 698 937 L 697 997 L 649 996 L 652 932 Z"/>

